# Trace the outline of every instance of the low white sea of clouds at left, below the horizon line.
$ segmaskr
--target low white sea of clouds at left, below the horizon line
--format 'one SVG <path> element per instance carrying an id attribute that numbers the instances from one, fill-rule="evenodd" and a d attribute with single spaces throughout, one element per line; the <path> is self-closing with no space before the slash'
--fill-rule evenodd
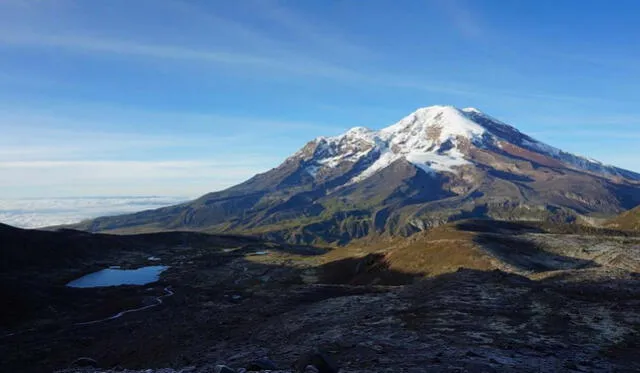
<path id="1" fill-rule="evenodd" d="M 0 199 L 0 223 L 41 228 L 155 209 L 188 199 L 174 196 Z"/>

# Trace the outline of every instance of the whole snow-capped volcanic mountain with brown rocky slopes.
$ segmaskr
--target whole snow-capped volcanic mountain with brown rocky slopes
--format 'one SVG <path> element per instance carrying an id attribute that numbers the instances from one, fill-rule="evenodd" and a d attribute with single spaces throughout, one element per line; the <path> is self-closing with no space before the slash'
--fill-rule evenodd
<path id="1" fill-rule="evenodd" d="M 563 152 L 476 109 L 432 106 L 379 131 L 319 137 L 280 166 L 195 201 L 76 228 L 344 244 L 471 217 L 565 222 L 638 203 L 640 174 Z"/>

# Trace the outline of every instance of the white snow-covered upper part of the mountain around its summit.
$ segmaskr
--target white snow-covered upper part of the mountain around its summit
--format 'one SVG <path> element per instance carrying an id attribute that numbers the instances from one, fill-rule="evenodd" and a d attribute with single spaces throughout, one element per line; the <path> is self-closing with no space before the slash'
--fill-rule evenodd
<path id="1" fill-rule="evenodd" d="M 375 160 L 350 182 L 358 182 L 404 159 L 427 173 L 456 172 L 459 166 L 470 165 L 471 147 L 503 149 L 503 144 L 566 162 L 566 166 L 606 177 L 640 180 L 640 174 L 621 170 L 601 162 L 563 152 L 521 133 L 474 108 L 452 106 L 421 108 L 380 131 L 356 127 L 335 137 L 320 137 L 292 158 L 304 158 L 305 170 L 314 178 L 324 170 L 342 162 L 357 162 L 365 157 Z M 511 149 L 513 150 L 513 149 Z"/>

